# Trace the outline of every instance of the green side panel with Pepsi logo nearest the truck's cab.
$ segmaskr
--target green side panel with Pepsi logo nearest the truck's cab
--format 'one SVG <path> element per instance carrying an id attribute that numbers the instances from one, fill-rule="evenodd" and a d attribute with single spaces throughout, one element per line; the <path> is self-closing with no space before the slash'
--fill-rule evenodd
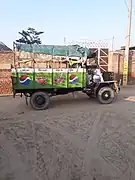
<path id="1" fill-rule="evenodd" d="M 69 69 L 68 73 L 68 87 L 75 88 L 75 87 L 84 87 L 84 73 L 83 68 L 73 68 Z"/>

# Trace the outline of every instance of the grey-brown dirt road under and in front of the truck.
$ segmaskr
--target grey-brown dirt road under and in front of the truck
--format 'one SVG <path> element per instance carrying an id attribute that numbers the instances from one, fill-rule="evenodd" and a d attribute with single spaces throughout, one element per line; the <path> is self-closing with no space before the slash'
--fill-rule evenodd
<path id="1" fill-rule="evenodd" d="M 0 98 L 0 180 L 127 180 L 135 177 L 134 89 L 111 105 L 55 97 L 33 111 Z"/>

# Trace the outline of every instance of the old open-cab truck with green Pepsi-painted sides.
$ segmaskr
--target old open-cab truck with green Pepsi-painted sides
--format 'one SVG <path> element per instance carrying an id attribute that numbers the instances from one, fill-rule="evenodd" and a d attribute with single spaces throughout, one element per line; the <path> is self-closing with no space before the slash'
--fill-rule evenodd
<path id="1" fill-rule="evenodd" d="M 120 91 L 117 81 L 104 80 L 96 54 L 86 47 L 14 43 L 14 53 L 13 97 L 24 96 L 35 110 L 47 109 L 52 96 L 76 91 L 110 104 Z M 29 57 L 21 58 L 21 54 Z"/>

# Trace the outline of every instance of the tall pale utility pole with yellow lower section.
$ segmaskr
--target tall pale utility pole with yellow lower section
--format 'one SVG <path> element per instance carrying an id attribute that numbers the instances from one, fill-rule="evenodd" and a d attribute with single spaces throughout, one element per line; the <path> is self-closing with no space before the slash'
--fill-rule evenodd
<path id="1" fill-rule="evenodd" d="M 132 19 L 132 0 L 128 0 L 128 26 L 126 35 L 126 47 L 124 56 L 124 68 L 123 68 L 123 86 L 128 82 L 128 62 L 129 62 L 129 47 L 130 47 L 130 35 L 131 35 L 131 19 Z"/>

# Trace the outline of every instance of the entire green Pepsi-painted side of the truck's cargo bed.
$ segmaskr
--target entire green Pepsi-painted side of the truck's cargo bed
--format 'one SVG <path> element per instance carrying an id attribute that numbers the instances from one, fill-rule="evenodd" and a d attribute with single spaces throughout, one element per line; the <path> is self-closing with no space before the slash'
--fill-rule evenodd
<path id="1" fill-rule="evenodd" d="M 86 69 L 26 69 L 12 71 L 14 89 L 86 87 Z"/>

